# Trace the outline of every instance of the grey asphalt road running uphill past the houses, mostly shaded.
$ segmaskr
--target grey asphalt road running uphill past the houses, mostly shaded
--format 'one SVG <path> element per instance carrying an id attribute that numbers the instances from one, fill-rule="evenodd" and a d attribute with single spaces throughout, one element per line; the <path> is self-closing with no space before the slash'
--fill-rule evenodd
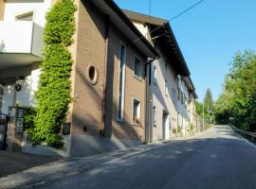
<path id="1" fill-rule="evenodd" d="M 216 126 L 42 188 L 254 189 L 256 147 L 228 126 Z"/>

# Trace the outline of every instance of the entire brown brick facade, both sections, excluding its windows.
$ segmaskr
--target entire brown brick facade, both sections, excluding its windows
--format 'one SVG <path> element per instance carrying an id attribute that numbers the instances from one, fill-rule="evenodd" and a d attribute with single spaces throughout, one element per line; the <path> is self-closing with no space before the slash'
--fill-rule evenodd
<path id="1" fill-rule="evenodd" d="M 101 129 L 105 128 L 106 137 L 115 136 L 120 139 L 143 141 L 145 80 L 144 77 L 141 80 L 137 79 L 133 72 L 135 54 L 143 61 L 143 68 L 146 58 L 125 38 L 119 28 L 112 23 L 109 23 L 108 27 L 107 16 L 90 5 L 89 1 L 80 1 L 78 12 L 77 56 L 73 70 L 74 101 L 70 112 L 71 134 L 100 136 Z M 109 36 L 107 67 L 106 36 Z M 124 122 L 117 121 L 120 43 L 126 44 Z M 92 84 L 86 76 L 87 68 L 91 65 L 99 74 L 96 84 Z M 144 76 L 144 69 L 142 70 Z M 134 98 L 140 101 L 141 126 L 132 124 Z M 104 99 L 106 99 L 105 113 L 103 113 Z"/>

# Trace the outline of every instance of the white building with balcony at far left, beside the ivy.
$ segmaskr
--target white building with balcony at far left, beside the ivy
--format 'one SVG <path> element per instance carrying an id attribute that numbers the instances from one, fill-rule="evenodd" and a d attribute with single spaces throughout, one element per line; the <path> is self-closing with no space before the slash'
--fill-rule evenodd
<path id="1" fill-rule="evenodd" d="M 0 112 L 8 113 L 16 103 L 34 105 L 51 5 L 52 0 L 0 0 Z"/>

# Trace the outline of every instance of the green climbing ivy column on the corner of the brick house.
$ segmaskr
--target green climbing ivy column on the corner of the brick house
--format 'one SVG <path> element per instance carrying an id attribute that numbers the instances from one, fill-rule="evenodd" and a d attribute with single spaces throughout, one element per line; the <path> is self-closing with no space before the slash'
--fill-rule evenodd
<path id="1" fill-rule="evenodd" d="M 45 142 L 48 146 L 63 146 L 59 133 L 71 102 L 73 63 L 67 47 L 73 43 L 76 10 L 72 0 L 59 0 L 46 14 L 45 58 L 35 94 L 35 127 L 30 129 L 30 141 L 34 145 Z"/>

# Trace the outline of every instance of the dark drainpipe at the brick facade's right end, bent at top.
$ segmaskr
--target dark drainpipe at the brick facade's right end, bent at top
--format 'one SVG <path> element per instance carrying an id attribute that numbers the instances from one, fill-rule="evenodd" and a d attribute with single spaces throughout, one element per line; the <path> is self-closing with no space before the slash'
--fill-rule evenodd
<path id="1" fill-rule="evenodd" d="M 145 81 L 146 81 L 146 116 L 145 116 L 145 139 L 144 143 L 151 143 L 151 98 L 150 98 L 150 90 L 151 90 L 151 63 L 158 59 L 155 57 L 154 59 L 148 58 L 147 63 L 145 64 Z M 148 72 L 149 68 L 149 72 Z"/>

